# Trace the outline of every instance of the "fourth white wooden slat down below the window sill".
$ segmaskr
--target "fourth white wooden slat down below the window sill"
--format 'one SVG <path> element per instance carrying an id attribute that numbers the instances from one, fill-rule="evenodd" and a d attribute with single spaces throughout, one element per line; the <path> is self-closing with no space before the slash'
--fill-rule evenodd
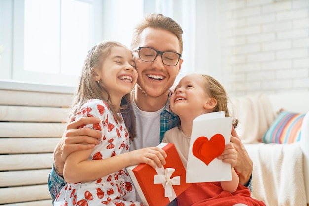
<path id="1" fill-rule="evenodd" d="M 0 154 L 53 152 L 60 138 L 0 138 Z"/>

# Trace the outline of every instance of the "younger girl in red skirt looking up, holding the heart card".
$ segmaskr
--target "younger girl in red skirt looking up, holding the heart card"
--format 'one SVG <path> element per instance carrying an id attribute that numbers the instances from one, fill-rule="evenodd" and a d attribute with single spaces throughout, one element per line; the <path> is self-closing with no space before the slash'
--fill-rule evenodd
<path id="1" fill-rule="evenodd" d="M 228 117 L 227 101 L 223 86 L 207 75 L 189 74 L 175 87 L 170 106 L 179 116 L 180 124 L 168 130 L 162 142 L 175 144 L 185 167 L 193 120 L 199 115 L 217 111 L 224 111 Z M 237 126 L 237 120 L 234 120 L 233 126 Z M 193 183 L 177 197 L 178 206 L 265 206 L 250 197 L 249 188 L 239 184 L 239 177 L 233 168 L 237 162 L 237 152 L 231 143 L 226 145 L 222 155 L 222 161 L 231 164 L 232 180 Z"/>

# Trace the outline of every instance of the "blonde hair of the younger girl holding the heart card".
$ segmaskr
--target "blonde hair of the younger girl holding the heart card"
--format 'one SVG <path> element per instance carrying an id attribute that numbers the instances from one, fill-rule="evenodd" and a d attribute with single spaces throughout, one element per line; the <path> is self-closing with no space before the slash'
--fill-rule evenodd
<path id="1" fill-rule="evenodd" d="M 213 77 L 206 74 L 198 74 L 204 80 L 204 90 L 209 94 L 210 97 L 217 100 L 217 105 L 215 106 L 213 112 L 224 111 L 226 117 L 230 116 L 228 109 L 228 95 L 224 87 Z M 233 126 L 236 128 L 238 125 L 238 120 L 233 119 Z"/>

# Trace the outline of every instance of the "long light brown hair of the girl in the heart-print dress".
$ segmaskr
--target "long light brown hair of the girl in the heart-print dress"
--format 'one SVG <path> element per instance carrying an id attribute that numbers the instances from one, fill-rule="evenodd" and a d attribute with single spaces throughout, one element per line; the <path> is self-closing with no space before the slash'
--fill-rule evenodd
<path id="1" fill-rule="evenodd" d="M 69 121 L 74 120 L 74 117 L 76 116 L 77 112 L 81 109 L 81 106 L 88 100 L 100 99 L 105 101 L 109 105 L 111 111 L 113 112 L 117 120 L 119 122 L 122 122 L 122 119 L 117 114 L 119 111 L 116 111 L 115 107 L 112 104 L 108 103 L 108 101 L 110 100 L 109 91 L 104 86 L 97 83 L 93 79 L 94 68 L 101 68 L 103 61 L 108 55 L 111 54 L 111 49 L 115 46 L 123 47 L 129 50 L 125 45 L 119 42 L 105 41 L 94 46 L 88 52 L 87 58 L 82 68 L 78 91 L 73 100 L 72 112 L 71 115 L 69 116 Z M 107 94 L 107 98 L 103 97 L 102 94 L 104 93 Z M 135 116 L 132 107 L 130 93 L 122 97 L 120 103 L 120 112 L 122 113 L 124 123 L 130 134 L 130 138 L 133 139 L 134 137 L 136 137 L 136 128 L 135 128 Z"/>

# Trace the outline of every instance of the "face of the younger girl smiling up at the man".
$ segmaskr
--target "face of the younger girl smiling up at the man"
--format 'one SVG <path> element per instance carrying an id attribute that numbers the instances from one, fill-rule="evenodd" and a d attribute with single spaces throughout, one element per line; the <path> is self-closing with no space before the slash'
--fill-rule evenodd
<path id="1" fill-rule="evenodd" d="M 183 77 L 170 97 L 171 110 L 179 117 L 190 121 L 207 113 L 206 103 L 210 96 L 204 87 L 205 82 L 198 74 Z"/>

